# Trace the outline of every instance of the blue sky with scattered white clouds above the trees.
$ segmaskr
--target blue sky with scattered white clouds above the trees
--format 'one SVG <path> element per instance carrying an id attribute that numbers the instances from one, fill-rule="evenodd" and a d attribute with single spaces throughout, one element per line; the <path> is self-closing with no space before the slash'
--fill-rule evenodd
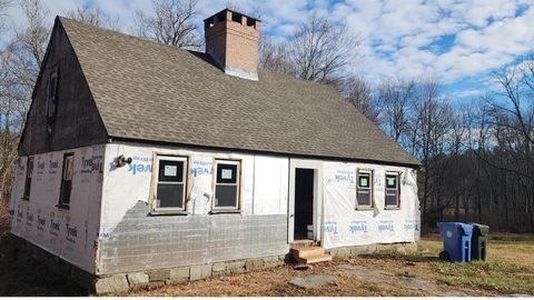
<path id="1" fill-rule="evenodd" d="M 121 30 L 131 32 L 136 9 L 149 11 L 149 0 L 43 0 L 56 14 L 81 3 L 98 4 Z M 491 72 L 534 52 L 534 0 L 199 0 L 201 19 L 227 4 L 259 11 L 263 30 L 287 39 L 312 13 L 345 22 L 362 43 L 350 70 L 372 82 L 388 77 L 433 76 L 458 102 L 472 101 L 492 88 Z M 13 22 L 22 22 L 12 8 Z M 201 26 L 200 26 L 201 28 Z"/>

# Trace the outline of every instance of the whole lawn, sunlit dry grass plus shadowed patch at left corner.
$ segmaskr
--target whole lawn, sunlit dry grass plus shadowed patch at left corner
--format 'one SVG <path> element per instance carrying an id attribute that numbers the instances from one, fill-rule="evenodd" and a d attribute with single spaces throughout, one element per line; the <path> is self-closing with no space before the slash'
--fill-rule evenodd
<path id="1" fill-rule="evenodd" d="M 87 294 L 58 276 L 43 270 L 38 261 L 6 254 L 6 214 L 0 214 L 0 296 Z M 3 220 L 2 220 L 3 219 Z M 128 296 L 506 296 L 534 294 L 534 234 L 491 232 L 488 260 L 473 263 L 438 261 L 442 242 L 437 234 L 423 238 L 418 251 L 409 254 L 383 252 L 354 259 L 335 259 L 309 270 L 291 266 L 211 278 Z M 340 271 L 339 266 L 367 270 Z M 8 271 L 7 271 L 8 270 Z M 295 277 L 330 274 L 336 282 L 316 289 L 287 283 Z M 127 296 L 127 294 L 122 294 Z"/>

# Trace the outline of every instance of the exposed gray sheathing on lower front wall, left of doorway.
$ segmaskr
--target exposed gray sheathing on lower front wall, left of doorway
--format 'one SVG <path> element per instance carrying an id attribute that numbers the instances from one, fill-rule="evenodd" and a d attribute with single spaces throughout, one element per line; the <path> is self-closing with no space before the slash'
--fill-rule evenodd
<path id="1" fill-rule="evenodd" d="M 109 237 L 99 240 L 97 274 L 126 273 L 289 251 L 287 216 L 150 216 L 131 208 Z"/>

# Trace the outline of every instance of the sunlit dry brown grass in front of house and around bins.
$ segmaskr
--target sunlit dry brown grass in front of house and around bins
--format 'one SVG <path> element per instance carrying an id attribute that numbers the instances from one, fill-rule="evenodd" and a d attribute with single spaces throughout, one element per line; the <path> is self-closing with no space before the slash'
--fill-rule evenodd
<path id="1" fill-rule="evenodd" d="M 441 262 L 437 253 L 442 242 L 439 236 L 426 237 L 416 253 L 380 253 L 356 259 L 339 260 L 314 266 L 312 270 L 296 271 L 290 266 L 246 274 L 235 274 L 204 281 L 140 290 L 129 296 L 433 296 L 435 292 L 406 289 L 398 284 L 366 282 L 349 273 L 339 273 L 336 266 L 355 264 L 374 270 L 392 272 L 393 277 L 427 280 L 437 284 L 439 293 L 454 291 L 468 296 L 506 296 L 513 293 L 534 294 L 534 241 L 515 236 L 494 234 L 491 240 L 488 261 L 475 263 Z M 512 236 L 514 237 L 514 236 Z M 287 284 L 295 277 L 325 273 L 338 277 L 336 283 L 320 289 L 305 290 Z M 395 280 L 393 280 L 394 282 Z M 121 294 L 126 296 L 126 294 Z"/>

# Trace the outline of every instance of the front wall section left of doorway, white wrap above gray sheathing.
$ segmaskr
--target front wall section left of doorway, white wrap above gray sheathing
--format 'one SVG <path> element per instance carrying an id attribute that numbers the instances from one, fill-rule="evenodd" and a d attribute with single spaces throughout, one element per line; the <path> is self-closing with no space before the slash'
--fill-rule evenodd
<path id="1" fill-rule="evenodd" d="M 156 153 L 189 157 L 187 216 L 150 213 Z M 131 164 L 115 168 L 123 154 Z M 210 214 L 215 159 L 241 160 L 240 213 Z M 287 158 L 136 144 L 106 148 L 98 274 L 279 256 L 287 243 Z"/>

